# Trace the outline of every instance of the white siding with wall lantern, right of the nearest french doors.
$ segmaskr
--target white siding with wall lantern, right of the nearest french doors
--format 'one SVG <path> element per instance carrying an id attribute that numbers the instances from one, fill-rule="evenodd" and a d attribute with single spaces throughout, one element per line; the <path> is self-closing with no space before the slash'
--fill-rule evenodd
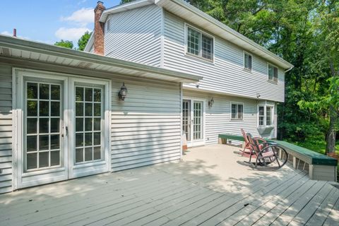
<path id="1" fill-rule="evenodd" d="M 181 105 L 179 83 L 112 81 L 112 171 L 179 160 Z"/>

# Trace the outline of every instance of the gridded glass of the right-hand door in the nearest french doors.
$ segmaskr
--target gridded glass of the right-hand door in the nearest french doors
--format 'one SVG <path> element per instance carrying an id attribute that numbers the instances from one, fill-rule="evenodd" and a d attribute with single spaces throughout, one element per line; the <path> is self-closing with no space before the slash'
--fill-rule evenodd
<path id="1" fill-rule="evenodd" d="M 75 87 L 75 162 L 102 160 L 102 88 Z"/>

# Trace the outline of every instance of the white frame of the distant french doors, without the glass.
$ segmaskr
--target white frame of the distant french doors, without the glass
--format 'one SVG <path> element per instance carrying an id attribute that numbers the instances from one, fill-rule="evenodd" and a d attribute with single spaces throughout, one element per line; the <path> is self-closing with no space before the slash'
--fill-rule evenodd
<path id="1" fill-rule="evenodd" d="M 206 137 L 206 100 L 202 99 L 202 98 L 196 98 L 196 97 L 187 97 L 184 96 L 182 97 L 182 101 L 184 100 L 190 100 L 191 101 L 191 141 L 187 141 L 187 146 L 189 148 L 191 147 L 196 147 L 196 146 L 201 146 L 201 145 L 205 145 L 205 137 Z M 201 132 L 203 133 L 201 139 L 199 140 L 195 140 L 194 141 L 194 128 L 193 128 L 193 120 L 194 120 L 194 101 L 196 102 L 203 102 L 203 121 L 202 121 L 202 126 L 203 129 L 201 130 Z"/>

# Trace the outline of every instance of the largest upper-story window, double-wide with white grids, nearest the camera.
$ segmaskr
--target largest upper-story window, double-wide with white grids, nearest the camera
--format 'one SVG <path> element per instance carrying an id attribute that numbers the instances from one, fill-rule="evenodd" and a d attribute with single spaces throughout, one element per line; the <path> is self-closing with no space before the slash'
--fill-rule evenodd
<path id="1" fill-rule="evenodd" d="M 213 37 L 189 26 L 186 34 L 186 52 L 213 61 Z"/>

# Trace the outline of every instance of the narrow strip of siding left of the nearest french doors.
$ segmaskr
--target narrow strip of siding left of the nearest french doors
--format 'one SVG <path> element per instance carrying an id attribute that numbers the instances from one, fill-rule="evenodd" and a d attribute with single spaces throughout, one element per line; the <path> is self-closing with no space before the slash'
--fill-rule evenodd
<path id="1" fill-rule="evenodd" d="M 12 189 L 12 68 L 0 64 L 0 194 Z"/>

